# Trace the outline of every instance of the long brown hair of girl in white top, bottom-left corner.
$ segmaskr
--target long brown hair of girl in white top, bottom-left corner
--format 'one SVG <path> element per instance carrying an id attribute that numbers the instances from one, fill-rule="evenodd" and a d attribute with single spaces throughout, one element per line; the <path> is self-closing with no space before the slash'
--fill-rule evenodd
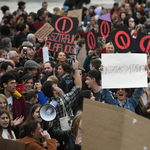
<path id="1" fill-rule="evenodd" d="M 9 125 L 7 127 L 7 130 L 8 130 L 8 133 L 10 134 L 11 139 L 13 139 L 14 136 L 12 135 L 12 132 L 11 132 L 11 119 L 10 119 L 9 113 L 7 112 L 7 110 L 0 109 L 0 116 L 3 114 L 6 114 L 9 118 Z M 1 138 L 2 138 L 2 132 L 3 132 L 3 128 L 2 128 L 2 126 L 0 126 L 0 137 Z"/>

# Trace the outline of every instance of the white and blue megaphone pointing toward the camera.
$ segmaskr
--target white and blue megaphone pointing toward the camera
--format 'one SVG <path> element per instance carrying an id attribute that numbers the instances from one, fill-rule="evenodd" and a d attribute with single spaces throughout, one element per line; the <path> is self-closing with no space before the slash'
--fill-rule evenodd
<path id="1" fill-rule="evenodd" d="M 58 103 L 51 101 L 50 104 L 45 104 L 40 108 L 40 117 L 45 121 L 52 121 L 56 117 L 56 108 Z"/>

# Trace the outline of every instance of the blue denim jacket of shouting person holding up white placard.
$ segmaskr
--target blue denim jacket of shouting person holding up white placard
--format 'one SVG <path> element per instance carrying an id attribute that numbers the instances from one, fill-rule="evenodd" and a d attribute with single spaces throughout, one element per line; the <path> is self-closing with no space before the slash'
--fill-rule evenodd
<path id="1" fill-rule="evenodd" d="M 124 104 L 122 105 L 118 99 L 116 100 L 112 97 L 108 89 L 102 89 L 102 98 L 106 103 L 129 109 L 132 112 L 135 112 L 135 107 L 138 105 L 142 94 L 143 94 L 143 88 L 137 88 L 135 92 L 132 94 L 132 97 L 130 98 L 127 97 Z"/>

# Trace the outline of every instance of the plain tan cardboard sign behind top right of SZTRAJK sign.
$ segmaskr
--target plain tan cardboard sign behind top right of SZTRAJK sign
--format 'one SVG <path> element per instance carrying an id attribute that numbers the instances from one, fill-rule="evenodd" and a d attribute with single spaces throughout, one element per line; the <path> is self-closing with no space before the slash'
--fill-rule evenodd
<path id="1" fill-rule="evenodd" d="M 76 17 L 79 21 L 79 26 L 81 26 L 82 21 L 82 9 L 70 10 L 68 11 L 68 17 Z"/>

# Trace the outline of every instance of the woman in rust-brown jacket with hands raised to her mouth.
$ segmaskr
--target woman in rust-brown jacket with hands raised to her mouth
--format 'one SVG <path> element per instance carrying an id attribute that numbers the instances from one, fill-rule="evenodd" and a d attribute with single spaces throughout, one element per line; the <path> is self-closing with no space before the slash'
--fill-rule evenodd
<path id="1" fill-rule="evenodd" d="M 46 140 L 46 144 L 40 142 L 40 138 Z M 56 150 L 56 140 L 51 139 L 48 132 L 43 131 L 41 125 L 37 121 L 30 121 L 25 126 L 22 132 L 20 133 L 20 139 L 17 141 L 23 142 L 26 145 L 25 150 L 33 149 L 46 149 Z"/>

